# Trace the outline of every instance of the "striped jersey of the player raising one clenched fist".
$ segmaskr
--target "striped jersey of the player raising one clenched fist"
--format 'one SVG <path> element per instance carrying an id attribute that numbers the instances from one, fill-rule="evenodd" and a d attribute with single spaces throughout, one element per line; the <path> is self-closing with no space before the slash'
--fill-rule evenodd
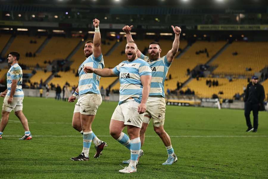
<path id="1" fill-rule="evenodd" d="M 79 67 L 79 83 L 78 91 L 79 95 L 86 94 L 88 92 L 93 92 L 100 94 L 99 91 L 99 80 L 100 76 L 94 73 L 85 73 L 84 67 L 93 67 L 93 68 L 104 68 L 104 59 L 102 54 L 99 57 L 95 58 L 94 55 L 90 55 Z"/>

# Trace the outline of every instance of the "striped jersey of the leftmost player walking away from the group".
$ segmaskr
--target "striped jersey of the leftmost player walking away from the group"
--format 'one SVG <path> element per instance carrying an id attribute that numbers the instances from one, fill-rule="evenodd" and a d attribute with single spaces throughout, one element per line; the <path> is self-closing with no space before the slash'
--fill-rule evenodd
<path id="1" fill-rule="evenodd" d="M 22 91 L 22 86 L 21 86 L 22 69 L 17 63 L 12 65 L 7 72 L 7 95 L 8 96 L 10 96 L 12 80 L 18 80 L 16 91 L 13 97 L 24 97 L 24 93 Z"/>

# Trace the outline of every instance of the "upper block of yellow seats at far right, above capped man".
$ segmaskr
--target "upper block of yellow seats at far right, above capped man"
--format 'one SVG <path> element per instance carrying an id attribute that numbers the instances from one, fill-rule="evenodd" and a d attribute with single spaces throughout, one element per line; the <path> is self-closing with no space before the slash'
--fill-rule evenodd
<path id="1" fill-rule="evenodd" d="M 236 42 L 219 55 L 211 65 L 218 66 L 215 75 L 244 75 L 250 77 L 268 65 L 267 42 Z M 234 53 L 234 55 L 233 55 Z M 237 55 L 235 55 L 237 53 Z M 246 70 L 251 68 L 251 70 Z"/>

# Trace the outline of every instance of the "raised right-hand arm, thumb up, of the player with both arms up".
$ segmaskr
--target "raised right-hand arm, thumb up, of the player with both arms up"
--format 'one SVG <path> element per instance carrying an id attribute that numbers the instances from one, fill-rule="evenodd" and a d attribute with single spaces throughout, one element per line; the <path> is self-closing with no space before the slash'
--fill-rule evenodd
<path id="1" fill-rule="evenodd" d="M 174 57 L 175 57 L 176 53 L 178 52 L 179 44 L 180 44 L 180 32 L 181 32 L 180 27 L 176 26 L 174 28 L 173 25 L 171 27 L 175 33 L 175 39 L 174 39 L 173 44 L 172 44 L 172 49 L 169 50 L 169 52 L 166 54 L 166 58 L 167 58 L 167 61 L 169 63 L 171 63 L 174 60 Z"/>

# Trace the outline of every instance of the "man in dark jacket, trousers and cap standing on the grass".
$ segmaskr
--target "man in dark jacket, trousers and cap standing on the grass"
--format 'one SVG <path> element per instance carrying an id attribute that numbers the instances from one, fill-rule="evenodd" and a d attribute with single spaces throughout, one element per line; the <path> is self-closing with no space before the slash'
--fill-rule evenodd
<path id="1" fill-rule="evenodd" d="M 245 117 L 248 129 L 246 132 L 257 132 L 258 129 L 258 112 L 264 109 L 264 87 L 258 84 L 258 76 L 252 76 L 251 82 L 247 85 L 245 92 Z M 253 127 L 250 122 L 250 111 L 253 111 Z"/>

